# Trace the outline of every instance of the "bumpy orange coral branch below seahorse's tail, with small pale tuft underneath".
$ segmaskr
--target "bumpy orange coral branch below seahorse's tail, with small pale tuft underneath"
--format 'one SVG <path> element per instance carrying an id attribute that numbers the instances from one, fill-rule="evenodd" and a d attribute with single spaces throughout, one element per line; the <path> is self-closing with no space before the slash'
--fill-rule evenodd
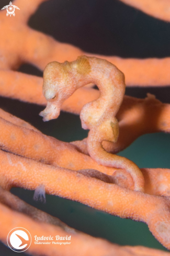
<path id="1" fill-rule="evenodd" d="M 146 222 L 155 238 L 170 248 L 168 197 L 127 190 L 76 171 L 3 151 L 0 152 L 0 161 L 0 183 L 4 188 L 20 186 L 35 190 L 43 184 L 48 194 L 69 198 L 122 218 Z M 36 176 L 35 181 L 32 180 L 33 176 Z"/>

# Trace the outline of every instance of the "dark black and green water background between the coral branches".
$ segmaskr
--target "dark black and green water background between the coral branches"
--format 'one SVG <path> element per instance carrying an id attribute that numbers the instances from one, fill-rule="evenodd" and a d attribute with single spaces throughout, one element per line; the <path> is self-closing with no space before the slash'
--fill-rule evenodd
<path id="1" fill-rule="evenodd" d="M 6 4 L 7 0 L 1 0 L 2 7 Z M 56 40 L 72 43 L 91 52 L 92 55 L 100 53 L 124 58 L 163 58 L 170 55 L 170 24 L 117 0 L 50 0 L 40 6 L 30 18 L 29 25 L 52 35 Z M 42 76 L 42 72 L 29 64 L 22 65 L 19 70 Z M 169 87 L 135 87 L 127 88 L 126 94 L 144 98 L 150 92 L 162 102 L 170 103 L 169 91 Z M 58 119 L 43 123 L 38 115 L 43 109 L 41 106 L 1 98 L 0 107 L 60 140 L 80 140 L 87 136 L 87 131 L 81 128 L 79 116 L 61 113 Z M 165 133 L 144 135 L 119 155 L 131 159 L 140 168 L 170 168 L 169 141 L 170 135 Z M 122 245 L 142 245 L 165 250 L 142 222 L 120 219 L 57 196 L 47 195 L 47 203 L 41 204 L 32 200 L 32 191 L 13 188 L 12 192 L 90 235 Z M 2 243 L 0 254 L 16 255 Z"/>

